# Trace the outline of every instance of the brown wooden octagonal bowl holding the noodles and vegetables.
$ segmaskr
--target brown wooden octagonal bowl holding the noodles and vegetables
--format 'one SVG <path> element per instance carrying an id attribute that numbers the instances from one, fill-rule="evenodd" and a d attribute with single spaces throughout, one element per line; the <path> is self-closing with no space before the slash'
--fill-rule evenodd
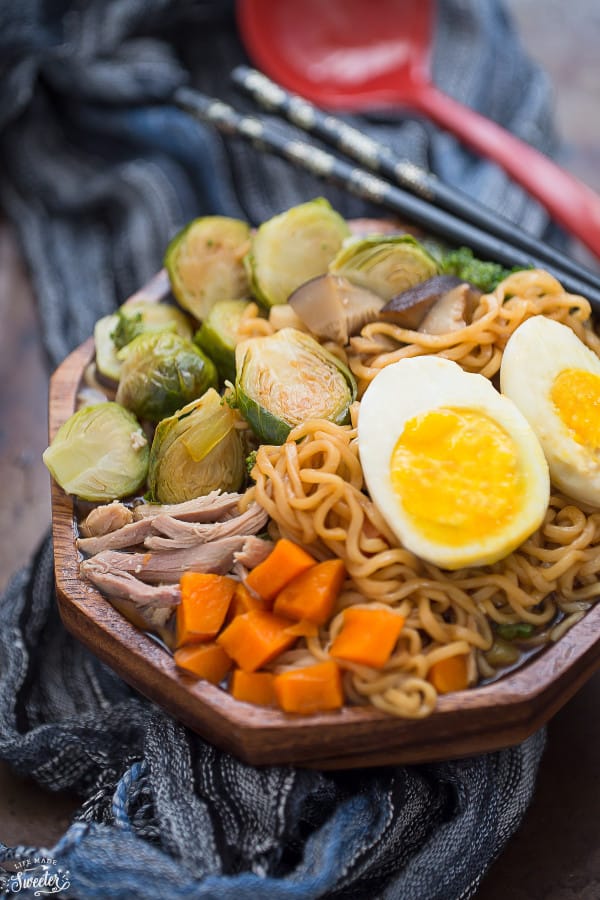
<path id="1" fill-rule="evenodd" d="M 168 294 L 164 272 L 135 299 Z M 134 298 L 131 298 L 134 299 Z M 74 412 L 90 338 L 68 356 L 50 384 L 49 432 Z M 323 769 L 422 763 L 498 750 L 524 740 L 553 716 L 600 665 L 600 603 L 556 644 L 483 687 L 438 699 L 426 719 L 345 707 L 286 715 L 242 703 L 220 687 L 180 672 L 172 656 L 125 619 L 79 575 L 73 500 L 52 484 L 55 574 L 66 628 L 132 687 L 206 740 L 253 765 Z"/>

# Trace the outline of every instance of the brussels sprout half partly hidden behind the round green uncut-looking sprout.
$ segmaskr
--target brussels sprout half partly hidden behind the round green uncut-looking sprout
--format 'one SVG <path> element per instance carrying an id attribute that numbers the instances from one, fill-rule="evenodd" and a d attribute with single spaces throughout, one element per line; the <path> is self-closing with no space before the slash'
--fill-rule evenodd
<path id="1" fill-rule="evenodd" d="M 193 334 L 188 317 L 176 306 L 149 300 L 124 303 L 116 313 L 98 319 L 94 327 L 98 373 L 118 381 L 123 367 L 119 350 L 146 331 L 174 331 L 188 339 Z"/>

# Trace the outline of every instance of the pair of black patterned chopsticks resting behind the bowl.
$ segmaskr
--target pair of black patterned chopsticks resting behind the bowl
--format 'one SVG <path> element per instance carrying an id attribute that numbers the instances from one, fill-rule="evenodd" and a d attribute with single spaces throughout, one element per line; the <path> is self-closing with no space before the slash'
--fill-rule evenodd
<path id="1" fill-rule="evenodd" d="M 445 241 L 466 245 L 483 259 L 507 267 L 546 269 L 565 290 L 587 297 L 595 312 L 600 313 L 599 274 L 536 240 L 466 194 L 449 188 L 432 173 L 396 157 L 358 129 L 289 94 L 260 72 L 240 66 L 233 70 L 232 79 L 262 107 L 333 145 L 359 162 L 361 168 L 295 136 L 287 137 L 266 119 L 240 114 L 221 100 L 192 88 L 178 88 L 174 100 L 218 131 L 242 137 L 257 149 L 281 156 L 319 178 L 384 206 Z"/>

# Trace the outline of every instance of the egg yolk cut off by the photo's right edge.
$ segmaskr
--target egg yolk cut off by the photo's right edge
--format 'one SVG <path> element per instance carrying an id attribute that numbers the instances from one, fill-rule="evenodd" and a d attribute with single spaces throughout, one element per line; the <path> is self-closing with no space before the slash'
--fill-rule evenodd
<path id="1" fill-rule="evenodd" d="M 578 443 L 600 447 L 600 375 L 564 369 L 554 379 L 550 398 Z"/>

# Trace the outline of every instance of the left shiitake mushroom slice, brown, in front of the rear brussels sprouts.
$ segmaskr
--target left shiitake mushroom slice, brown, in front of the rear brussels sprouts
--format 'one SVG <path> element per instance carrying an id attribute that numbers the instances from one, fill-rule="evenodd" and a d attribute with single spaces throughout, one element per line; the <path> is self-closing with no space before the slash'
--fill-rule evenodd
<path id="1" fill-rule="evenodd" d="M 300 285 L 288 303 L 312 334 L 346 344 L 378 318 L 384 300 L 341 275 L 319 275 Z"/>

